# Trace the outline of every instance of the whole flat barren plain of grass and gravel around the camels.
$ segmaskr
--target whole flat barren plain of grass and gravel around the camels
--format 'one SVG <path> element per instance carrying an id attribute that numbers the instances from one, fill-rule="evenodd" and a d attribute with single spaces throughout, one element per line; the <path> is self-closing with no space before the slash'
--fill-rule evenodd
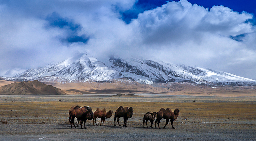
<path id="1" fill-rule="evenodd" d="M 255 140 L 256 98 L 141 94 L 142 97 L 101 95 L 0 95 L 1 140 Z M 193 102 L 196 100 L 196 102 Z M 114 126 L 114 113 L 104 126 L 86 122 L 87 129 L 71 129 L 72 106 L 132 107 L 127 128 Z M 160 108 L 180 110 L 172 129 L 143 128 L 143 115 Z M 100 123 L 100 119 L 97 119 Z M 160 127 L 165 120 L 161 120 Z M 123 124 L 123 118 L 120 118 Z M 99 124 L 98 124 L 99 125 Z M 148 126 L 150 122 L 148 122 Z M 145 125 L 146 126 L 146 125 Z M 155 123 L 153 124 L 153 127 Z"/>

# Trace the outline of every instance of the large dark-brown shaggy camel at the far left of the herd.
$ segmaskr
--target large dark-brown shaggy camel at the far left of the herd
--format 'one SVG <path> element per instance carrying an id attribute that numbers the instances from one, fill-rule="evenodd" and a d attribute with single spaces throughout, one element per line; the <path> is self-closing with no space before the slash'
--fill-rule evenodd
<path id="1" fill-rule="evenodd" d="M 72 123 L 73 123 L 74 127 L 76 128 L 75 123 L 74 123 L 75 117 L 76 117 L 77 120 L 81 120 L 81 129 L 83 129 L 83 123 L 84 123 L 84 129 L 86 129 L 86 127 L 85 127 L 86 120 L 87 119 L 92 120 L 92 118 L 93 118 L 92 108 L 89 106 L 86 106 L 86 107 L 84 106 L 82 108 L 80 108 L 80 106 L 76 106 L 76 107 L 74 107 L 73 110 L 71 110 L 69 112 L 69 116 L 71 117 L 71 120 L 69 122 L 71 125 L 71 128 L 73 128 Z"/>

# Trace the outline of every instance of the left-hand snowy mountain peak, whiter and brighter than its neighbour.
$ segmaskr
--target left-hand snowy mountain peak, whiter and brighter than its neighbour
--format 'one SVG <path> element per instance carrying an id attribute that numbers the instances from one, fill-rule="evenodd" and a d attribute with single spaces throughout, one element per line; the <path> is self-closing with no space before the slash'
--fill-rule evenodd
<path id="1" fill-rule="evenodd" d="M 109 80 L 120 78 L 121 76 L 122 74 L 119 71 L 106 66 L 90 55 L 84 54 L 78 60 L 72 57 L 55 65 L 51 63 L 43 68 L 28 69 L 20 74 L 16 74 L 14 78 L 49 80 L 54 77 L 55 79 L 58 78 L 58 80 Z"/>

